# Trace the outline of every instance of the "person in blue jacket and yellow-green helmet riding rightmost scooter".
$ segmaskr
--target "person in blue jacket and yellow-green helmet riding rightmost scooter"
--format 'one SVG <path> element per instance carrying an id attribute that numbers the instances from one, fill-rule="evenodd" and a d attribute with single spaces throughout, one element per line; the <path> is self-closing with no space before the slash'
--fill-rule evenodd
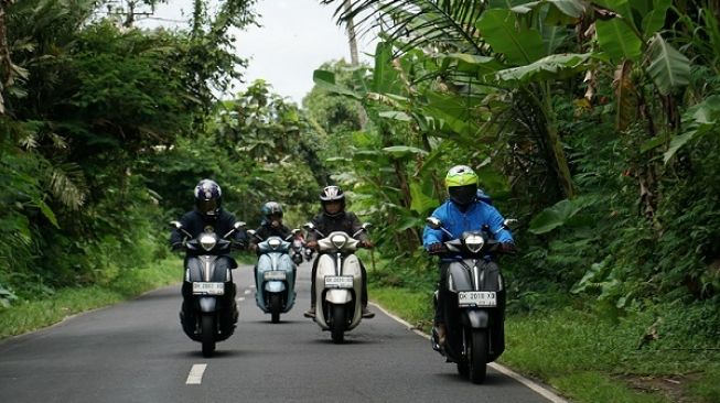
<path id="1" fill-rule="evenodd" d="M 481 230 L 483 226 L 490 228 L 491 233 L 501 242 L 502 252 L 515 251 L 513 235 L 505 228 L 503 216 L 487 202 L 477 197 L 477 174 L 466 165 L 456 165 L 448 171 L 445 176 L 445 188 L 449 199 L 432 211 L 432 217 L 440 219 L 445 229 L 453 238 L 460 238 L 464 231 Z M 439 229 L 425 227 L 422 232 L 422 246 L 431 254 L 444 253 L 442 242 L 449 241 L 447 233 Z M 438 305 L 434 315 L 434 330 L 440 345 L 444 344 L 445 323 L 444 304 L 447 301 L 447 270 L 440 265 L 440 290 L 438 292 Z"/>

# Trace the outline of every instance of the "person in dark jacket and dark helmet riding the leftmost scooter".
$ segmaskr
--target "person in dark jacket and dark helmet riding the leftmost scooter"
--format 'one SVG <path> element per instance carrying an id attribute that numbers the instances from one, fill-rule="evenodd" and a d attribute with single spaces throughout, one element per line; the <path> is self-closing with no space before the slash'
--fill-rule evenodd
<path id="1" fill-rule="evenodd" d="M 223 190 L 215 181 L 200 181 L 195 186 L 194 195 L 195 208 L 192 211 L 185 213 L 180 219 L 182 228 L 192 236 L 192 239 L 197 238 L 201 233 L 206 231 L 212 231 L 215 232 L 217 237 L 223 237 L 234 229 L 236 222 L 235 216 L 223 209 Z M 172 250 L 182 249 L 187 240 L 189 239 L 186 239 L 186 236 L 183 232 L 173 228 L 172 233 L 170 235 Z M 235 231 L 230 240 L 239 249 L 245 248 L 247 244 L 247 236 L 245 231 Z M 205 252 L 186 251 L 184 266 L 187 266 L 187 259 L 203 253 Z M 237 268 L 237 262 L 232 257 L 223 255 L 222 259 L 229 260 L 227 265 L 230 269 Z M 190 290 L 183 288 L 183 295 L 189 292 Z M 184 306 L 182 312 L 185 312 Z M 237 317 L 237 315 L 235 315 L 235 317 Z"/>

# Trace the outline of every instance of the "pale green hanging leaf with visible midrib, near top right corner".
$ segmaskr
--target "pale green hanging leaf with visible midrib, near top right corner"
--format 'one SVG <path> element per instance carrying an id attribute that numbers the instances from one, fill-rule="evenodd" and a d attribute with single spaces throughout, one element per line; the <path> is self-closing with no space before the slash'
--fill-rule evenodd
<path id="1" fill-rule="evenodd" d="M 662 95 L 669 95 L 674 89 L 690 83 L 690 61 L 665 42 L 660 34 L 653 36 L 647 54 L 647 74 Z"/>

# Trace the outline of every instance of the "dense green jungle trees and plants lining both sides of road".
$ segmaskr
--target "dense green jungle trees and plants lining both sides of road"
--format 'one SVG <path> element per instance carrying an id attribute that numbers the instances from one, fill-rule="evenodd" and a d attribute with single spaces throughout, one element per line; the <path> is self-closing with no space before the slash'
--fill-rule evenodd
<path id="1" fill-rule="evenodd" d="M 614 400 L 583 379 L 720 400 L 719 1 L 326 0 L 380 41 L 373 65 L 319 66 L 301 106 L 264 80 L 217 96 L 254 2 L 143 30 L 101 0 L 0 1 L 0 315 L 169 258 L 209 177 L 249 227 L 270 199 L 298 227 L 343 186 L 375 225 L 373 290 L 418 298 L 427 329 L 423 220 L 468 164 L 519 220 L 507 363 L 579 401 Z M 573 335 L 592 371 L 528 358 Z"/>

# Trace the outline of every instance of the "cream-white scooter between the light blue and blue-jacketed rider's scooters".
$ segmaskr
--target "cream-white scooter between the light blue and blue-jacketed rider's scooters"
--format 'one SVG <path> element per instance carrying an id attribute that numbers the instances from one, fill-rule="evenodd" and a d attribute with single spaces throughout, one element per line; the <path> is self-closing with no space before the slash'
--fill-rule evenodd
<path id="1" fill-rule="evenodd" d="M 315 272 L 315 323 L 323 330 L 330 330 L 335 344 L 342 344 L 345 331 L 359 325 L 362 319 L 363 277 L 361 263 L 355 251 L 359 241 L 355 239 L 367 231 L 369 224 L 353 236 L 334 231 L 327 236 L 320 232 L 312 222 L 304 225 L 322 239 L 318 240 L 318 269 Z"/>

